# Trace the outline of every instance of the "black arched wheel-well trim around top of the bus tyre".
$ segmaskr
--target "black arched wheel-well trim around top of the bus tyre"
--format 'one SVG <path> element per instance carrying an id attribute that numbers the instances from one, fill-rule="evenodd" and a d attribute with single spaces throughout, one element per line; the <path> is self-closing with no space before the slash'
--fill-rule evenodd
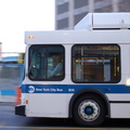
<path id="1" fill-rule="evenodd" d="M 109 113 L 110 108 L 109 108 L 109 102 L 108 102 L 107 96 L 104 93 L 102 93 L 102 92 L 99 93 L 99 92 L 94 92 L 94 91 L 86 91 L 86 92 L 73 95 L 73 98 L 70 100 L 70 103 L 69 103 L 69 117 L 73 117 L 74 105 L 75 105 L 77 99 L 79 99 L 79 98 L 81 98 L 81 96 L 83 96 L 86 94 L 94 94 L 94 95 L 101 98 L 102 101 L 105 104 L 105 107 L 106 107 L 106 116 L 109 117 L 109 115 L 110 115 L 110 113 Z"/>

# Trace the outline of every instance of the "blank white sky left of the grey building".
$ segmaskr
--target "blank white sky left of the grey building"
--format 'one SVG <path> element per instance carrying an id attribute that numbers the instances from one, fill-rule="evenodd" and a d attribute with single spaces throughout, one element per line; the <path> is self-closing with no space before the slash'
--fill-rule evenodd
<path id="1" fill-rule="evenodd" d="M 0 0 L 2 52 L 25 52 L 25 30 L 54 30 L 55 0 Z"/>

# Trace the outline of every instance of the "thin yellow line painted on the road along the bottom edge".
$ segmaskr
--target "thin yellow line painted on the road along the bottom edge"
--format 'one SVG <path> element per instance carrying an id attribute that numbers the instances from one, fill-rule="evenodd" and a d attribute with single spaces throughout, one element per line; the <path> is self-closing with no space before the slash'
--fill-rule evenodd
<path id="1" fill-rule="evenodd" d="M 11 129 L 47 129 L 47 130 L 130 130 L 130 128 L 63 128 L 63 127 L 12 127 L 12 126 L 0 126 L 0 128 Z"/>

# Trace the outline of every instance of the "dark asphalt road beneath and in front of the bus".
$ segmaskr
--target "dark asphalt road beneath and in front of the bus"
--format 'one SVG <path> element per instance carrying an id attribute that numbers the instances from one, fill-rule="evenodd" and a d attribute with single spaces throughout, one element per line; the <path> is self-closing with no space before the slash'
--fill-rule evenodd
<path id="1" fill-rule="evenodd" d="M 78 127 L 72 119 L 27 118 L 14 115 L 14 104 L 0 103 L 0 130 L 130 130 L 130 119 L 107 119 L 101 127 Z"/>

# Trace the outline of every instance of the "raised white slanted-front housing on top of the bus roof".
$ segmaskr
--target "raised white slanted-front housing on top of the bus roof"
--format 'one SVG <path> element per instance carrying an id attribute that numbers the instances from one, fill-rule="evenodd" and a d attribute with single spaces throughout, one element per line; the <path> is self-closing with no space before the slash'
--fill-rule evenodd
<path id="1" fill-rule="evenodd" d="M 130 13 L 89 13 L 75 29 L 123 29 L 130 28 Z"/>

